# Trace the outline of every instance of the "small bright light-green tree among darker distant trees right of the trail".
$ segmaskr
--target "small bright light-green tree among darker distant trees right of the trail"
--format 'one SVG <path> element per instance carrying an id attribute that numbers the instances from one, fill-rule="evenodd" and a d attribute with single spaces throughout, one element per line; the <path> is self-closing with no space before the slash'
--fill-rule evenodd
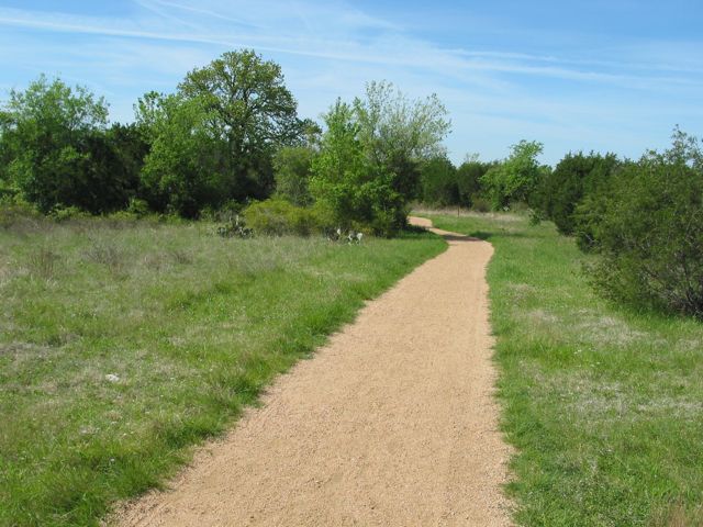
<path id="1" fill-rule="evenodd" d="M 510 206 L 512 202 L 527 202 L 545 175 L 537 162 L 544 145 L 521 141 L 511 147 L 511 154 L 500 165 L 491 167 L 480 179 L 490 197 L 493 210 Z"/>

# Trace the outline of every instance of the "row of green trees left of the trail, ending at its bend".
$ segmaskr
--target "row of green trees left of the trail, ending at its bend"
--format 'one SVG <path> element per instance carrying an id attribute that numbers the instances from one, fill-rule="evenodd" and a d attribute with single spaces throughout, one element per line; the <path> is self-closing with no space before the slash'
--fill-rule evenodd
<path id="1" fill-rule="evenodd" d="M 105 100 L 86 88 L 41 77 L 0 113 L 0 197 L 43 213 L 188 218 L 276 198 L 315 205 L 322 223 L 392 235 L 420 167 L 443 152 L 446 113 L 436 96 L 371 82 L 336 101 L 323 130 L 298 116 L 280 66 L 248 49 L 193 69 L 174 93 L 146 93 L 131 124 L 109 125 Z"/>

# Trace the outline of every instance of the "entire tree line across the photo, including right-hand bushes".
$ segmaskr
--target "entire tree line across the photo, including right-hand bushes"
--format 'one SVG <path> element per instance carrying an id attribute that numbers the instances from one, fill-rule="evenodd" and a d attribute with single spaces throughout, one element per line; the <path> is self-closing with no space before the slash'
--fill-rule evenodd
<path id="1" fill-rule="evenodd" d="M 40 77 L 0 110 L 0 202 L 42 213 L 130 211 L 188 218 L 243 212 L 255 231 L 341 228 L 393 236 L 413 202 L 553 221 L 584 251 L 606 296 L 703 317 L 703 154 L 674 130 L 640 159 L 567 154 L 521 141 L 502 160 L 455 167 L 436 96 L 411 100 L 370 82 L 322 125 L 298 115 L 281 68 L 254 51 L 190 71 L 174 93 L 148 92 L 130 124 L 82 87 Z M 236 232 L 236 229 L 224 229 Z"/>

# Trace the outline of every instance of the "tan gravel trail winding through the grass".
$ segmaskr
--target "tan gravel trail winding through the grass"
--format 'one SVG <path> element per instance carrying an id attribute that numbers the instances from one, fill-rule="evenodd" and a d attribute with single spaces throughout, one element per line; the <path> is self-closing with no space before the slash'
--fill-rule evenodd
<path id="1" fill-rule="evenodd" d="M 429 227 L 427 220 L 413 223 Z M 486 242 L 446 236 L 123 526 L 504 526 Z"/>

